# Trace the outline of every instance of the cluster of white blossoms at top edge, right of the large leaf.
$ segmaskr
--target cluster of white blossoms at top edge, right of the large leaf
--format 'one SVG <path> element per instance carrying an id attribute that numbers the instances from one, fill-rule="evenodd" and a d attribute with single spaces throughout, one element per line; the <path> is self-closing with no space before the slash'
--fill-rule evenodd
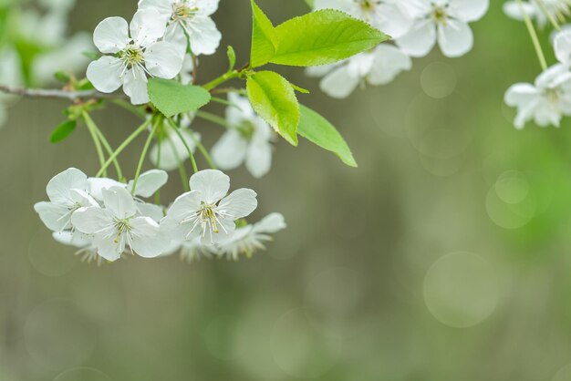
<path id="1" fill-rule="evenodd" d="M 316 0 L 315 8 L 335 8 L 392 36 L 395 45 L 380 45 L 335 65 L 311 67 L 323 77 L 321 89 L 347 98 L 358 86 L 384 85 L 410 70 L 410 57 L 424 57 L 438 44 L 446 57 L 461 57 L 473 46 L 468 25 L 488 10 L 488 0 Z"/>

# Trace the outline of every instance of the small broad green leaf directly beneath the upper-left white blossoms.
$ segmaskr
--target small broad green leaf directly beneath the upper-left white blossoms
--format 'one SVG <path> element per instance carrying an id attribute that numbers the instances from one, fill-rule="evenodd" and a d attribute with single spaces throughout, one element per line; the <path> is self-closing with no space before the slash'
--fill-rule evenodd
<path id="1" fill-rule="evenodd" d="M 151 78 L 147 87 L 152 104 L 171 118 L 195 111 L 210 102 L 210 93 L 199 86 L 184 86 L 175 80 Z"/>

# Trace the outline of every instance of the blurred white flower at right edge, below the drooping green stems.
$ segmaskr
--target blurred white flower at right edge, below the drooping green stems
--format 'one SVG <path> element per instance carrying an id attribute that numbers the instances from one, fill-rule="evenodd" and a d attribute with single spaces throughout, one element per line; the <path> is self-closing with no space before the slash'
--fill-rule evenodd
<path id="1" fill-rule="evenodd" d="M 549 67 L 535 79 L 535 85 L 518 83 L 509 88 L 504 100 L 517 108 L 517 129 L 532 119 L 541 127 L 558 127 L 563 115 L 571 115 L 571 73 L 561 64 Z"/>

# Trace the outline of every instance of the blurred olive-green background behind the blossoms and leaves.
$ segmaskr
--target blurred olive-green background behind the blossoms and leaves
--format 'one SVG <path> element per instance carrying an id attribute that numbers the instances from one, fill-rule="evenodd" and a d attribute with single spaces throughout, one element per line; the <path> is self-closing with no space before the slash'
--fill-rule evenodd
<path id="1" fill-rule="evenodd" d="M 248 3 L 222 0 L 214 15 L 239 62 Z M 276 23 L 307 11 L 259 5 Z M 80 263 L 32 207 L 59 171 L 98 170 L 88 131 L 49 144 L 67 104 L 15 103 L 0 130 L 0 380 L 571 379 L 571 123 L 514 129 L 504 91 L 540 67 L 501 5 L 472 25 L 467 56 L 436 50 L 346 100 L 280 68 L 312 91 L 300 100 L 337 125 L 359 168 L 303 141 L 280 142 L 262 180 L 232 172 L 233 188 L 259 194 L 255 220 L 280 211 L 288 223 L 239 263 Z M 135 8 L 79 1 L 70 28 Z M 552 57 L 548 31 L 542 41 Z M 203 57 L 199 82 L 225 67 L 223 48 Z M 138 124 L 113 106 L 93 116 L 114 145 Z M 208 146 L 222 132 L 193 127 Z M 141 146 L 121 157 L 127 177 Z M 174 173 L 163 197 L 180 192 Z"/>

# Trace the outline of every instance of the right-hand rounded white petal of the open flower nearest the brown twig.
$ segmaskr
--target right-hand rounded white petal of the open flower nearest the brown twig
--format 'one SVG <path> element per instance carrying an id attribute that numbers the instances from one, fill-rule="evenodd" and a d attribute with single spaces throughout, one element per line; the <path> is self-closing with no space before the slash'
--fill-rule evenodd
<path id="1" fill-rule="evenodd" d="M 145 67 L 152 76 L 171 79 L 182 69 L 182 57 L 176 46 L 168 42 L 152 44 L 144 53 Z"/>

